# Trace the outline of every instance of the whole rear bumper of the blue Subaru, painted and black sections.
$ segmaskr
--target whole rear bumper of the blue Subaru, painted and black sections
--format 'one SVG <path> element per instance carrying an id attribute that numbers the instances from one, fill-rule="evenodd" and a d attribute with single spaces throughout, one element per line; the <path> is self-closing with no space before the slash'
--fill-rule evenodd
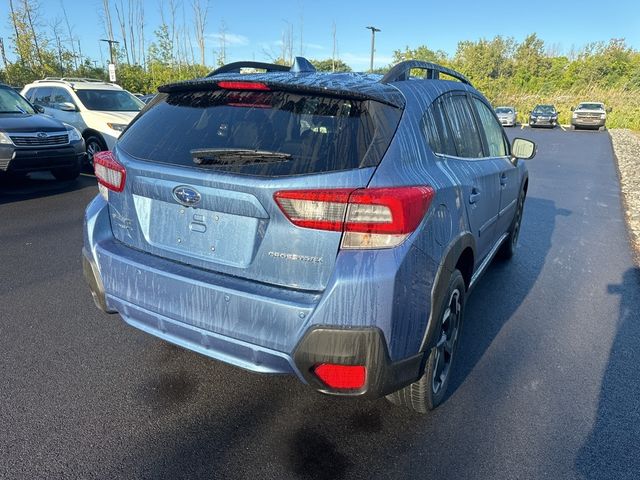
<path id="1" fill-rule="evenodd" d="M 410 257 L 408 263 L 415 266 L 419 258 Z M 419 344 L 430 305 L 419 303 L 408 289 L 412 301 L 398 301 L 393 282 L 387 285 L 384 278 L 373 279 L 377 283 L 365 294 L 367 280 L 357 272 L 352 279 L 341 274 L 347 278 L 344 284 L 324 293 L 305 293 L 199 271 L 119 243 L 100 197 L 87 208 L 83 267 L 101 310 L 247 370 L 295 374 L 324 393 L 368 397 L 397 390 L 421 373 Z M 353 264 L 348 268 L 353 272 Z M 359 293 L 350 290 L 350 282 Z M 418 288 L 430 291 L 429 286 Z M 415 325 L 406 309 L 414 312 Z M 367 382 L 357 391 L 332 391 L 313 374 L 319 363 L 365 365 Z"/>

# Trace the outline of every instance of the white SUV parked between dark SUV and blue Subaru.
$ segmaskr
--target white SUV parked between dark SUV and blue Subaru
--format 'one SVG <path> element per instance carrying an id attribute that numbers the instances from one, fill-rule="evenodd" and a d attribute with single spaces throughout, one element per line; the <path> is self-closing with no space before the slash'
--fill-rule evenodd
<path id="1" fill-rule="evenodd" d="M 102 150 L 112 150 L 120 133 L 144 103 L 119 85 L 89 78 L 36 80 L 22 95 L 44 113 L 76 127 L 84 137 L 87 160 Z"/>

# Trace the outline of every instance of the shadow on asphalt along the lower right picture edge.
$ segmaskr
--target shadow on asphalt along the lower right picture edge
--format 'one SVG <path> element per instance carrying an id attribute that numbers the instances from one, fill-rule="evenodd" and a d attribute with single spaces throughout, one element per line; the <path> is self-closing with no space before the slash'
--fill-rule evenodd
<path id="1" fill-rule="evenodd" d="M 627 270 L 619 284 L 616 337 L 602 377 L 595 424 L 580 449 L 576 470 L 581 478 L 640 478 L 640 268 Z M 612 312 L 616 314 L 616 312 Z M 633 365 L 633 368 L 629 368 Z"/>

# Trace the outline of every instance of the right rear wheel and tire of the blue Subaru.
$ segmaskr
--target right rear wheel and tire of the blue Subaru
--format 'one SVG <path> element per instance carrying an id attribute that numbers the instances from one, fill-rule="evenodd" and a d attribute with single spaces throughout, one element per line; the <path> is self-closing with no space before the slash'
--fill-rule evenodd
<path id="1" fill-rule="evenodd" d="M 414 383 L 387 395 L 394 405 L 427 413 L 445 399 L 464 315 L 465 284 L 459 270 L 449 278 L 449 288 L 440 308 L 436 344 L 428 352 L 424 373 Z"/>

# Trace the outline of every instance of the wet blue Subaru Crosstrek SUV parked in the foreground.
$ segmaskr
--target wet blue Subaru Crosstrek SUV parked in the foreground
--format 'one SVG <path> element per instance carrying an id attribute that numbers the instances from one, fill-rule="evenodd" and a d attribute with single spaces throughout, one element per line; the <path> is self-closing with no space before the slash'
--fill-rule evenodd
<path id="1" fill-rule="evenodd" d="M 535 145 L 425 62 L 237 62 L 159 90 L 94 159 L 96 305 L 320 392 L 442 402 L 465 298 L 514 253 Z"/>

